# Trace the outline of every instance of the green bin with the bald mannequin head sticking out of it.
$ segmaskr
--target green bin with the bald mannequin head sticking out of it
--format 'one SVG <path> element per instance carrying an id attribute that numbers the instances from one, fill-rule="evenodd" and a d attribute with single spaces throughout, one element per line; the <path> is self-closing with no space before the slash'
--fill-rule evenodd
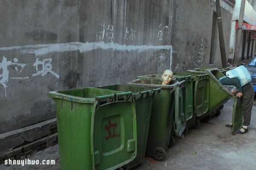
<path id="1" fill-rule="evenodd" d="M 172 134 L 175 134 L 175 91 L 179 86 L 179 82 L 176 81 L 171 85 L 165 86 L 162 85 L 161 80 L 136 79 L 128 84 L 150 88 L 161 88 L 160 93 L 153 99 L 145 155 L 153 157 L 157 161 L 163 161 L 166 158 L 166 149 L 169 144 L 175 142 L 175 139 L 171 136 Z M 185 118 L 184 115 L 183 118 Z M 180 127 L 180 130 L 176 128 L 177 133 L 184 129 L 184 126 Z"/>

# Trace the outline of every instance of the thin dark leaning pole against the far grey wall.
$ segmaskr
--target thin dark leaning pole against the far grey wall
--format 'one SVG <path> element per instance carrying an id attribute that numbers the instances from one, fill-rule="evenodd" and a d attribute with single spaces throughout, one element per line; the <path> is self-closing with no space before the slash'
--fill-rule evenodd
<path id="1" fill-rule="evenodd" d="M 216 12 L 217 12 L 218 32 L 219 32 L 220 49 L 221 49 L 221 63 L 222 63 L 222 67 L 226 68 L 227 57 L 226 57 L 225 42 L 224 42 L 224 35 L 223 35 L 223 28 L 222 28 L 220 0 L 216 0 Z"/>

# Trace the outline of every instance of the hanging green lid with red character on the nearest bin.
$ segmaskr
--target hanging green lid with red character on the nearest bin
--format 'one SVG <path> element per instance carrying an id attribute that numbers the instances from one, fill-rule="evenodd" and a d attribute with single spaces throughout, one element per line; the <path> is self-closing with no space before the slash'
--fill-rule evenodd
<path id="1" fill-rule="evenodd" d="M 113 170 L 136 158 L 137 124 L 131 92 L 116 94 L 113 102 L 99 104 L 92 112 L 90 142 L 97 170 Z"/>

